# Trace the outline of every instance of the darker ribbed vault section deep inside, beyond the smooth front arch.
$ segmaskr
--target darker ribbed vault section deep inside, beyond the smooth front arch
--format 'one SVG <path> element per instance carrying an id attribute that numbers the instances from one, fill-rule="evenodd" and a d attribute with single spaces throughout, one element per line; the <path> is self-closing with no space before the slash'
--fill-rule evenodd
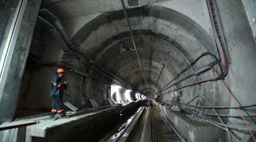
<path id="1" fill-rule="evenodd" d="M 180 66 L 185 67 L 187 65 L 185 57 L 183 57 L 183 54 L 177 48 L 162 41 L 158 37 L 150 35 L 138 36 L 135 42 L 138 43 L 137 48 L 141 49 L 138 50 L 138 53 L 148 80 L 156 81 L 163 65 L 166 65 L 165 68 L 167 69 L 164 71 L 167 73 L 164 73 L 165 78 L 168 79 L 173 78 L 172 75 L 177 75 L 181 71 L 179 69 Z M 126 50 L 121 53 L 120 43 L 124 43 L 124 47 L 132 47 L 130 38 L 119 41 L 116 45 L 101 53 L 102 56 L 97 57 L 98 60 L 95 59 L 95 61 L 117 76 L 134 84 L 134 86 L 138 86 L 140 82 L 133 83 L 134 78 L 141 78 L 140 80 L 143 81 L 143 76 L 140 68 L 138 68 L 139 64 L 137 56 L 134 54 L 135 51 Z M 134 77 L 131 78 L 130 76 Z"/>

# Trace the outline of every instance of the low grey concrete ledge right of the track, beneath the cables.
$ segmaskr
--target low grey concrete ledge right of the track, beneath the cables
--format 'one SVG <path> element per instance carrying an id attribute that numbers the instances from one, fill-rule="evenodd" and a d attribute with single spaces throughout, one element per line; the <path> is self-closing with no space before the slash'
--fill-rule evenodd
<path id="1" fill-rule="evenodd" d="M 162 106 L 162 112 L 186 141 L 228 141 L 227 132 L 206 122 L 186 117 L 182 112 L 171 112 Z"/>

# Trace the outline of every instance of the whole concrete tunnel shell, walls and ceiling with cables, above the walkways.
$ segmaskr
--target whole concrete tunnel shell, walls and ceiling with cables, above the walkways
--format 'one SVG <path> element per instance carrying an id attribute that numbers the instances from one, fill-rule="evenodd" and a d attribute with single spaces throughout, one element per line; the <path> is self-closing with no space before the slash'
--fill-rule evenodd
<path id="1" fill-rule="evenodd" d="M 61 67 L 70 82 L 63 102 L 79 110 L 159 94 L 162 105 L 178 98 L 187 113 L 205 106 L 198 116 L 239 124 L 244 131 L 229 137 L 253 140 L 255 2 L 124 1 L 123 9 L 122 1 L 42 1 L 13 119 L 51 110 L 50 85 Z"/>

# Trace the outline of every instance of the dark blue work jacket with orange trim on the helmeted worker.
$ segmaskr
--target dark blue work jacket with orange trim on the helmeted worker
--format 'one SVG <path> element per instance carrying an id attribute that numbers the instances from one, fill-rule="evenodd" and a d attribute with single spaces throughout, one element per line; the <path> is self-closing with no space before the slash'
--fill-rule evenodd
<path id="1" fill-rule="evenodd" d="M 67 85 L 64 83 L 63 79 L 56 75 L 52 79 L 50 96 L 63 97 L 63 92 L 66 88 Z"/>

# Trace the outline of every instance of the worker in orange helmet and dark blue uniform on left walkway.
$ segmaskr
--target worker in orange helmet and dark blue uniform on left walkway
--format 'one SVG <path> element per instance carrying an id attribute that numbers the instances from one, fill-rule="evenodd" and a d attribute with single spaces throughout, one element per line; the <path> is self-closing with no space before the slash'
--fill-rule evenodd
<path id="1" fill-rule="evenodd" d="M 64 78 L 65 76 L 65 69 L 64 68 L 58 68 L 56 75 L 52 79 L 52 87 L 50 96 L 53 99 L 53 106 L 52 111 L 50 113 L 50 119 L 56 120 L 57 118 L 54 118 L 56 113 L 60 114 L 60 119 L 62 118 L 69 118 L 66 116 L 66 113 L 63 109 L 63 92 L 68 87 L 69 82 L 67 82 Z"/>

